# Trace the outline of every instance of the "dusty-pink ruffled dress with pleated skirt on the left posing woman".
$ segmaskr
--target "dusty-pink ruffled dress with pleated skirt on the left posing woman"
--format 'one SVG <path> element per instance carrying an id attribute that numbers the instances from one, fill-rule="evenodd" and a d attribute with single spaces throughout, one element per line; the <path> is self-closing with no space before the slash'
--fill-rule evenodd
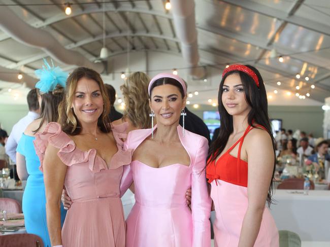
<path id="1" fill-rule="evenodd" d="M 64 186 L 73 203 L 62 228 L 64 247 L 125 247 L 120 180 L 123 165 L 131 161 L 131 151 L 123 151 L 115 128 L 113 135 L 118 152 L 108 165 L 96 155 L 95 149 L 78 149 L 58 123 L 47 124 L 44 132 L 36 135 L 35 147 L 41 166 L 48 144 L 59 149 L 58 157 L 68 166 Z"/>

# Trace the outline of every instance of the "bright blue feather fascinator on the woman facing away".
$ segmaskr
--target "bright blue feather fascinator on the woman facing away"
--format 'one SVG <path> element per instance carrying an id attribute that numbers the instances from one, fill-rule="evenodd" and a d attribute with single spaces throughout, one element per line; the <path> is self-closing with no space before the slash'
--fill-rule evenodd
<path id="1" fill-rule="evenodd" d="M 53 60 L 51 60 L 52 66 L 48 64 L 45 58 L 43 60 L 45 63 L 43 68 L 35 71 L 36 76 L 40 79 L 36 84 L 36 88 L 39 88 L 43 93 L 52 92 L 57 85 L 65 88 L 65 82 L 69 74 L 60 67 L 54 67 Z"/>

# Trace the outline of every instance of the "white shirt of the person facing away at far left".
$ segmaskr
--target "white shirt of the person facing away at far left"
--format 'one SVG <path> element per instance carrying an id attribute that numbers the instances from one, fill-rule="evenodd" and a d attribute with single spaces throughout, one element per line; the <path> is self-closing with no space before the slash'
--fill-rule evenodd
<path id="1" fill-rule="evenodd" d="M 27 125 L 29 125 L 32 121 L 39 118 L 38 113 L 28 112 L 28 114 L 20 119 L 12 129 L 10 133 L 7 143 L 6 143 L 6 153 L 8 156 L 16 163 L 16 148 L 19 142 L 19 139 L 22 136 L 22 133 L 26 129 Z"/>

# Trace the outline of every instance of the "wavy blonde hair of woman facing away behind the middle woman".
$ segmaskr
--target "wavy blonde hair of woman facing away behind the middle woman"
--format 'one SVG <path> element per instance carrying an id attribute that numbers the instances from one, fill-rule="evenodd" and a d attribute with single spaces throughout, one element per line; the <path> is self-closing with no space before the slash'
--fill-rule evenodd
<path id="1" fill-rule="evenodd" d="M 126 104 L 123 117 L 127 117 L 135 127 L 150 128 L 148 85 L 150 78 L 143 72 L 131 74 L 120 90 Z"/>

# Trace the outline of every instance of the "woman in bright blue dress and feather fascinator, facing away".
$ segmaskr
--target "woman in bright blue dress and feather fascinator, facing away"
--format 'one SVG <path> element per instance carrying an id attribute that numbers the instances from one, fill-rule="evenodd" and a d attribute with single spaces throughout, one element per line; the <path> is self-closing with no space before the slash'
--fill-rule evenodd
<path id="1" fill-rule="evenodd" d="M 57 107 L 63 98 L 68 75 L 59 67 L 51 67 L 46 60 L 45 67 L 36 70 L 36 75 L 40 78 L 36 88 L 39 89 L 41 115 L 30 123 L 22 134 L 16 149 L 16 165 L 20 180 L 27 180 L 22 202 L 26 232 L 40 236 L 44 246 L 51 247 L 46 220 L 44 175 L 39 169 L 40 160 L 33 141 L 35 133 L 42 132 L 47 123 L 57 121 Z M 61 205 L 62 225 L 65 214 L 66 211 Z"/>

